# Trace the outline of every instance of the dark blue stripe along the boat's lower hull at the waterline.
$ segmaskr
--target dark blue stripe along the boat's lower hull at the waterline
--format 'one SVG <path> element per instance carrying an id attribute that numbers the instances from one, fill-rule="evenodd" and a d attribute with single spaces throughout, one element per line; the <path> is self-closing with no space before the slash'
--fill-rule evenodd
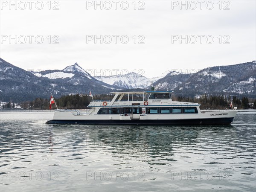
<path id="1" fill-rule="evenodd" d="M 228 125 L 231 118 L 209 119 L 131 119 L 131 120 L 50 120 L 47 124 L 80 124 L 80 125 Z"/>

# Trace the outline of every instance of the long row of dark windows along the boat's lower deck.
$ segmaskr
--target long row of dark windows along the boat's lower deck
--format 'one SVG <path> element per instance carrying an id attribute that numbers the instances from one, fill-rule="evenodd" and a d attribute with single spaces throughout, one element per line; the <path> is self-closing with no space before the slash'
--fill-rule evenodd
<path id="1" fill-rule="evenodd" d="M 98 114 L 141 114 L 142 108 L 100 108 Z M 178 107 L 178 108 L 145 108 L 147 114 L 157 113 L 198 113 L 196 107 Z"/>

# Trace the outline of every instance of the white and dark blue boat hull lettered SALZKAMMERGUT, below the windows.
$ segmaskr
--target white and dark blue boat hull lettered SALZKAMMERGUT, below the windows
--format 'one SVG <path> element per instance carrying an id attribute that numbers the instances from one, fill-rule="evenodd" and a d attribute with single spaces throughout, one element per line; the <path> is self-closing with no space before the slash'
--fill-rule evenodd
<path id="1" fill-rule="evenodd" d="M 209 111 L 197 114 L 87 114 L 82 111 L 56 110 L 47 124 L 95 124 L 95 125 L 227 125 L 233 121 L 237 111 Z"/>

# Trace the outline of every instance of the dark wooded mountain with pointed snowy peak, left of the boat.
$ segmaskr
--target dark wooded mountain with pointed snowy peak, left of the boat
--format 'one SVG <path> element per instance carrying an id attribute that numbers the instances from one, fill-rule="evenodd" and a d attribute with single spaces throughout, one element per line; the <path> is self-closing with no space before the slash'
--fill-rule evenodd
<path id="1" fill-rule="evenodd" d="M 15 102 L 48 98 L 67 94 L 109 93 L 115 87 L 98 81 L 78 64 L 64 70 L 31 72 L 16 67 L 0 58 L 0 101 Z"/>

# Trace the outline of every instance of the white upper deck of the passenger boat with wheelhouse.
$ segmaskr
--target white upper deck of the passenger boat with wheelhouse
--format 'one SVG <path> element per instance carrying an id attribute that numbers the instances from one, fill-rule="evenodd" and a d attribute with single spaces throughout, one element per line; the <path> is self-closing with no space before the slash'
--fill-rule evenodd
<path id="1" fill-rule="evenodd" d="M 199 106 L 198 103 L 172 101 L 170 91 L 111 92 L 111 101 L 92 101 L 88 107 L 131 107 L 131 106 Z"/>

